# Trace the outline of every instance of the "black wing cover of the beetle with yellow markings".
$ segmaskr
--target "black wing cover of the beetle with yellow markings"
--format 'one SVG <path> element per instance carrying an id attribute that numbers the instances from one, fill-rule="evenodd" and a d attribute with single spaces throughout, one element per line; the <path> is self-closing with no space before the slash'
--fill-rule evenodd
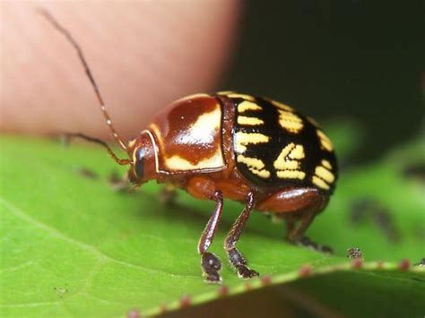
<path id="1" fill-rule="evenodd" d="M 219 93 L 235 107 L 233 148 L 240 173 L 256 185 L 334 190 L 332 143 L 313 120 L 274 100 Z"/>

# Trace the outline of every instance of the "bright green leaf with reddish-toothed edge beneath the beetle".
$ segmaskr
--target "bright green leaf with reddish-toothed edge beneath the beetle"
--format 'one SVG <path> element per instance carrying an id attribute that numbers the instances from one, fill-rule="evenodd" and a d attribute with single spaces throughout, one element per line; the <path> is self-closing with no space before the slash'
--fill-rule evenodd
<path id="1" fill-rule="evenodd" d="M 361 284 L 369 285 L 368 271 L 382 267 L 386 281 L 421 281 L 423 295 L 423 270 L 398 270 L 401 259 L 418 262 L 425 254 L 423 185 L 401 172 L 405 157 L 411 158 L 415 149 L 342 174 L 329 208 L 308 230 L 316 241 L 334 247 L 334 256 L 285 243 L 282 225 L 254 213 L 239 247 L 263 279 L 249 280 L 249 287 L 295 281 L 304 264 L 311 275 L 355 272 Z M 83 176 L 82 168 L 99 177 Z M 113 171 L 114 162 L 98 148 L 73 144 L 65 149 L 47 140 L 2 138 L 2 316 L 123 316 L 132 308 L 158 314 L 162 304 L 178 308 L 182 297 L 197 304 L 227 290 L 204 283 L 196 253 L 212 202 L 179 193 L 176 204 L 164 206 L 158 200 L 160 186 L 153 183 L 143 185 L 140 193 L 117 193 L 107 182 Z M 363 199 L 393 218 L 397 241 L 389 240 L 373 218 L 351 221 L 353 207 Z M 225 202 L 212 245 L 222 261 L 221 242 L 241 208 Z M 368 209 L 367 214 L 375 213 Z M 364 253 L 367 262 L 361 270 L 353 270 L 346 257 L 350 247 Z M 238 279 L 227 262 L 223 265 L 229 294 L 245 292 L 247 281 Z M 425 309 L 420 300 L 412 302 Z"/>

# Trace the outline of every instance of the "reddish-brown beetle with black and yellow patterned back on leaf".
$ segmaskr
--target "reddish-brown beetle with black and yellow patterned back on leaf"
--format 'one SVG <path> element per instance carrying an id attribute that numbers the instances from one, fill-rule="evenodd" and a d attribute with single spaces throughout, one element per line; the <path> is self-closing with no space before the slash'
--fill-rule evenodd
<path id="1" fill-rule="evenodd" d="M 206 281 L 221 282 L 221 261 L 208 248 L 224 198 L 245 206 L 224 242 L 240 278 L 259 275 L 236 246 L 254 209 L 285 219 L 291 242 L 311 243 L 304 233 L 325 209 L 338 175 L 332 142 L 312 118 L 273 99 L 235 91 L 196 94 L 171 103 L 136 138 L 124 142 L 112 125 L 81 48 L 49 13 L 42 13 L 77 50 L 108 128 L 128 157 L 118 159 L 97 138 L 69 135 L 102 145 L 117 164 L 129 166 L 128 180 L 136 186 L 156 180 L 215 202 L 197 246 Z"/>

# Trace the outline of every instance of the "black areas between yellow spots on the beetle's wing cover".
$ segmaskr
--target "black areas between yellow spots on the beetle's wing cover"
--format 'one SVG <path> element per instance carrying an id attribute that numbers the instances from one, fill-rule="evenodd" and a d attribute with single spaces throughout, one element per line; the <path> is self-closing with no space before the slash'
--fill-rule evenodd
<path id="1" fill-rule="evenodd" d="M 270 137 L 269 142 L 261 143 L 250 143 L 247 144 L 247 150 L 243 153 L 239 153 L 235 147 L 235 157 L 239 154 L 249 158 L 260 159 L 265 163 L 265 169 L 270 171 L 271 176 L 269 178 L 262 178 L 252 173 L 247 165 L 237 162 L 239 171 L 251 182 L 257 185 L 263 186 L 314 186 L 311 182 L 311 177 L 315 175 L 317 166 L 320 166 L 323 159 L 329 161 L 332 166 L 332 173 L 335 176 L 335 181 L 338 176 L 338 167 L 334 151 L 327 151 L 321 148 L 320 140 L 317 136 L 317 127 L 311 124 L 306 116 L 299 114 L 297 111 L 293 111 L 293 114 L 299 116 L 302 119 L 303 127 L 298 133 L 291 133 L 284 129 L 279 124 L 279 111 L 278 107 L 275 107 L 267 99 L 256 98 L 255 103 L 262 107 L 262 110 L 246 110 L 243 113 L 239 113 L 238 105 L 245 101 L 241 98 L 231 99 L 235 106 L 235 124 L 234 124 L 234 142 L 236 142 L 237 133 L 262 133 Z M 264 125 L 239 125 L 238 116 L 252 116 L 261 119 L 265 122 Z M 273 167 L 273 162 L 279 157 L 283 148 L 293 142 L 294 144 L 300 144 L 304 148 L 305 158 L 300 159 L 300 170 L 303 171 L 306 176 L 303 180 L 279 178 L 276 175 L 276 169 Z M 332 193 L 334 191 L 335 181 L 330 185 L 330 189 L 325 191 L 319 189 L 324 193 Z"/>

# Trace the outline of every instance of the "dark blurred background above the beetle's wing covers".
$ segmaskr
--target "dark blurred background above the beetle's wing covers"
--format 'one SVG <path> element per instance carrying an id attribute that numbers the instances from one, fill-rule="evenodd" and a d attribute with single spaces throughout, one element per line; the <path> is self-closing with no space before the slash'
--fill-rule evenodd
<path id="1" fill-rule="evenodd" d="M 366 138 L 354 159 L 373 159 L 421 130 L 423 4 L 247 1 L 221 88 L 268 96 L 319 120 L 358 119 Z"/>

